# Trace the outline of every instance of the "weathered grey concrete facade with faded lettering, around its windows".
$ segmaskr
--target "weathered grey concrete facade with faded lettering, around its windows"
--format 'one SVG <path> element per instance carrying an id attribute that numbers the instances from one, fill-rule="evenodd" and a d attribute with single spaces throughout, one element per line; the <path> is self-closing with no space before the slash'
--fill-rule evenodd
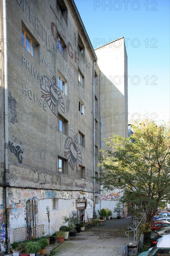
<path id="1" fill-rule="evenodd" d="M 79 190 L 85 191 L 87 199 L 85 218 L 93 213 L 92 83 L 96 57 L 74 4 L 65 1 L 65 5 L 67 19 L 55 0 L 7 0 L 10 243 L 13 229 L 27 225 L 26 202 L 33 198 L 38 200 L 36 224 L 48 226 L 49 206 L 50 234 L 63 224 L 64 215 L 76 210 L 76 199 L 82 196 Z M 37 60 L 22 46 L 22 26 L 39 45 Z M 57 48 L 57 33 L 65 43 L 65 58 Z M 78 36 L 85 47 L 84 57 L 79 54 Z M 78 69 L 84 76 L 84 87 L 78 83 Z M 53 78 L 58 72 L 65 80 L 67 94 Z M 0 88 L 2 99 L 3 93 Z M 85 105 L 84 115 L 78 110 L 79 100 Z M 58 130 L 58 113 L 68 121 L 66 134 Z M 78 131 L 85 135 L 83 146 L 78 144 Z M 1 135 L 2 152 L 3 129 Z M 58 156 L 67 161 L 67 174 L 58 173 Z M 3 168 L 4 154 L 1 160 Z M 79 165 L 85 168 L 85 179 L 80 178 Z M 1 228 L 6 223 L 4 191 L 2 188 Z M 52 209 L 52 198 L 57 199 L 58 209 Z M 5 238 L 6 234 L 1 242 Z"/>

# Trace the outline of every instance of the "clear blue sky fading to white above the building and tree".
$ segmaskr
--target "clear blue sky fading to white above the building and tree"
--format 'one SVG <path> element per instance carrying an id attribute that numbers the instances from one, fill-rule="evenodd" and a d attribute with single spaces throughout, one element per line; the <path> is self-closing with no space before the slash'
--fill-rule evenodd
<path id="1" fill-rule="evenodd" d="M 125 38 L 129 119 L 170 121 L 170 0 L 75 4 L 94 49 Z"/>

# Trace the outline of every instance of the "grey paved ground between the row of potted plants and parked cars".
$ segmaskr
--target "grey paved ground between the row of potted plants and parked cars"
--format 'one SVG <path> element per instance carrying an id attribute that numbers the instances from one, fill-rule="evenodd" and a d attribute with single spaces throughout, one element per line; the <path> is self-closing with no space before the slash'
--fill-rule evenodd
<path id="1" fill-rule="evenodd" d="M 69 237 L 64 243 L 50 244 L 46 254 L 51 251 L 53 256 L 119 256 L 122 246 L 128 243 L 124 233 L 130 223 L 131 217 L 106 220 Z"/>

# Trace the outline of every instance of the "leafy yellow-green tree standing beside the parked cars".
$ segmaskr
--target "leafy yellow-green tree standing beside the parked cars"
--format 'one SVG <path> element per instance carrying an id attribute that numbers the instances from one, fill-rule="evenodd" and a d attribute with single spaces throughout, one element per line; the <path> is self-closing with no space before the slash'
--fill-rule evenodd
<path id="1" fill-rule="evenodd" d="M 170 127 L 147 122 L 133 131 L 128 138 L 105 140 L 100 181 L 104 189 L 123 189 L 127 205 L 142 204 L 151 223 L 157 208 L 170 202 Z"/>

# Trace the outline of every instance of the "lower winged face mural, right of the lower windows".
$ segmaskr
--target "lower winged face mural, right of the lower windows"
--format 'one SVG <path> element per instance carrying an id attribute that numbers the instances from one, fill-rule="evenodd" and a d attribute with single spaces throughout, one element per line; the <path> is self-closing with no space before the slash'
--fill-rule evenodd
<path id="1" fill-rule="evenodd" d="M 78 137 L 76 135 L 74 136 L 74 141 L 71 137 L 68 137 L 65 140 L 65 149 L 68 150 L 65 151 L 65 156 L 67 157 L 68 163 L 73 171 L 76 167 L 76 174 L 78 175 L 78 163 L 81 164 L 82 158 L 81 152 L 77 147 L 77 143 Z"/>

